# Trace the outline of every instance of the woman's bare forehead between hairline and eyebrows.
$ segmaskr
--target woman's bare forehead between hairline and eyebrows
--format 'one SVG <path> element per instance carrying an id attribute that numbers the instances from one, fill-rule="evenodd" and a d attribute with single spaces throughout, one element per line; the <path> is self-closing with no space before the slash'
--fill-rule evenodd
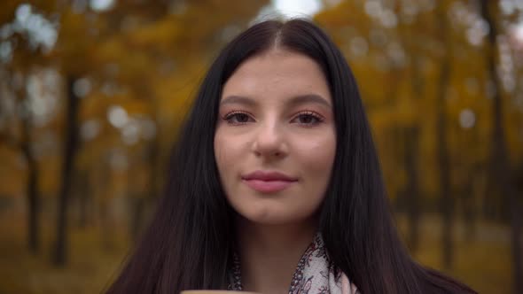
<path id="1" fill-rule="evenodd" d="M 223 87 L 222 97 L 295 97 L 316 94 L 331 100 L 321 67 L 312 58 L 289 50 L 269 50 L 246 59 Z"/>

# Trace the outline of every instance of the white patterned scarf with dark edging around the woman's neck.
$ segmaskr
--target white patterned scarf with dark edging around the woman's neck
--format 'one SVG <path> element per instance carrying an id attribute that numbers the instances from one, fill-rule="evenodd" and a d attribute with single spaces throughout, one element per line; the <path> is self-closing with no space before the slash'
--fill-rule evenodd
<path id="1" fill-rule="evenodd" d="M 238 254 L 229 271 L 228 290 L 243 290 Z M 308 245 L 293 275 L 289 294 L 358 294 L 354 284 L 329 258 L 320 233 Z"/>

